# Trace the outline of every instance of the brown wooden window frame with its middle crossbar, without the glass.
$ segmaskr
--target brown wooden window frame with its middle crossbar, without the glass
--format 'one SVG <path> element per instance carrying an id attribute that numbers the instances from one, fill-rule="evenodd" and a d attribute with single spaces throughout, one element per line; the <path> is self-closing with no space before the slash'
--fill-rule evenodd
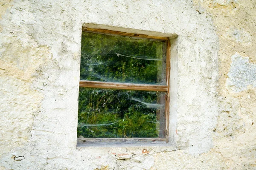
<path id="1" fill-rule="evenodd" d="M 134 34 L 121 31 L 112 31 L 107 29 L 99 28 L 82 28 L 83 32 L 92 33 L 106 33 L 115 35 L 124 35 L 129 37 L 141 37 L 150 38 L 156 40 L 166 41 L 166 85 L 147 85 L 147 84 L 133 84 L 133 83 L 119 83 L 119 82 L 99 82 L 99 81 L 89 81 L 80 80 L 79 87 L 88 88 L 111 88 L 111 89 L 122 89 L 122 90 L 139 90 L 139 91 L 162 91 L 167 93 L 166 103 L 165 103 L 165 137 L 163 138 L 77 138 L 77 146 L 137 146 L 137 145 L 152 145 L 166 144 L 169 142 L 169 103 L 170 103 L 170 39 L 169 37 L 156 37 L 146 34 Z"/>

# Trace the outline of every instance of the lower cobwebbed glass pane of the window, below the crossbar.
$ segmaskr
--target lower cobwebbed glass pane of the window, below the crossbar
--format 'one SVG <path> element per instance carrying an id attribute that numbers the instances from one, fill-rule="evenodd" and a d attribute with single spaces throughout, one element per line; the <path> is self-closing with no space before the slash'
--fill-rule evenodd
<path id="1" fill-rule="evenodd" d="M 79 88 L 78 137 L 164 137 L 166 92 Z"/>

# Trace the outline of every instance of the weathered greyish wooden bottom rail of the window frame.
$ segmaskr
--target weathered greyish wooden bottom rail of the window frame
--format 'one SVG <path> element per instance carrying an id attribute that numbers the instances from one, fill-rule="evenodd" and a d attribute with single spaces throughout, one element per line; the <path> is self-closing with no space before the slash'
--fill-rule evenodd
<path id="1" fill-rule="evenodd" d="M 166 138 L 78 138 L 77 146 L 83 145 L 143 145 L 166 144 Z"/>

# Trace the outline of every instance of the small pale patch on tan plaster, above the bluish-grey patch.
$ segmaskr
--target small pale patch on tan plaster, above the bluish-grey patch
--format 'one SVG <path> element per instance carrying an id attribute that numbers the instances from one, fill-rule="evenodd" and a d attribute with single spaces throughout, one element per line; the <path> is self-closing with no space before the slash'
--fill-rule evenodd
<path id="1" fill-rule="evenodd" d="M 244 28 L 230 28 L 223 36 L 227 38 L 227 40 L 236 41 L 243 46 L 252 44 L 252 38 L 249 32 L 245 31 Z"/>

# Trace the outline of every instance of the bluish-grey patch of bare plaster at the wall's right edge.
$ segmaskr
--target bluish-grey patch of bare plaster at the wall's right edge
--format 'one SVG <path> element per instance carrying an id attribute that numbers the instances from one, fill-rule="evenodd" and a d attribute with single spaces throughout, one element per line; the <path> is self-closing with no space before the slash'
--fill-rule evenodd
<path id="1" fill-rule="evenodd" d="M 244 91 L 248 85 L 256 87 L 256 65 L 249 63 L 249 57 L 235 54 L 227 74 L 227 86 L 235 92 Z"/>

